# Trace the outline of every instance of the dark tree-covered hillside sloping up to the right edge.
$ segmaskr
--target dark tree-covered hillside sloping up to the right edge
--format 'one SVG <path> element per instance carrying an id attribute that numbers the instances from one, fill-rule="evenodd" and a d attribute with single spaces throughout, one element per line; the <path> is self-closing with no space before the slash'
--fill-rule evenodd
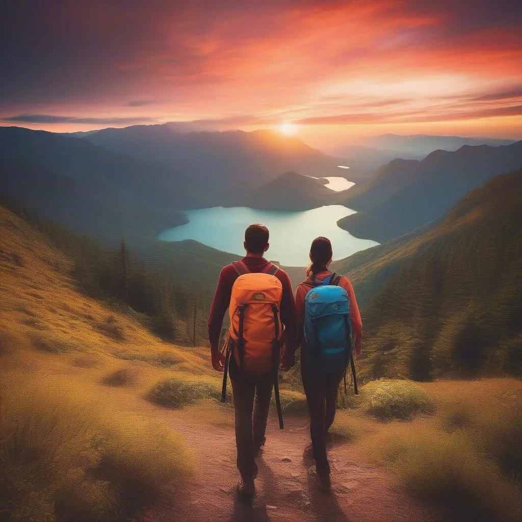
<path id="1" fill-rule="evenodd" d="M 362 254 L 349 275 L 367 378 L 522 373 L 521 190 L 522 171 L 498 176 L 438 226 Z"/>

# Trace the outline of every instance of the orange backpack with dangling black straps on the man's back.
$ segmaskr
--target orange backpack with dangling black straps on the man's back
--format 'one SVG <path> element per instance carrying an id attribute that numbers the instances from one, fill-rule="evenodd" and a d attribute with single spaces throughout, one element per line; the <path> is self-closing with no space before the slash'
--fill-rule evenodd
<path id="1" fill-rule="evenodd" d="M 269 263 L 262 272 L 250 272 L 242 261 L 232 263 L 239 277 L 230 298 L 230 328 L 227 343 L 222 401 L 226 393 L 228 362 L 231 355 L 242 375 L 252 379 L 274 378 L 276 403 L 279 403 L 277 370 L 281 356 L 279 311 L 283 288 L 275 277 L 279 268 Z M 278 405 L 278 413 L 280 406 Z M 280 416 L 282 428 L 282 418 Z"/>

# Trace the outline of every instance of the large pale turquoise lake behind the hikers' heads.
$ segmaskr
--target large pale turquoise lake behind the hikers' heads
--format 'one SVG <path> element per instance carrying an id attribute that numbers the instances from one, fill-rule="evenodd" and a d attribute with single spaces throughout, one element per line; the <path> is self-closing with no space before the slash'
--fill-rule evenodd
<path id="1" fill-rule="evenodd" d="M 351 183 L 351 182 L 348 182 Z M 337 221 L 355 213 L 342 205 L 328 205 L 299 212 L 257 210 L 247 207 L 213 207 L 187 210 L 187 224 L 165 230 L 163 241 L 193 239 L 224 252 L 243 255 L 244 233 L 252 223 L 263 223 L 270 231 L 268 259 L 286 266 L 305 266 L 312 240 L 319 235 L 330 239 L 334 259 L 342 259 L 365 248 L 378 245 L 359 239 L 337 226 Z"/>

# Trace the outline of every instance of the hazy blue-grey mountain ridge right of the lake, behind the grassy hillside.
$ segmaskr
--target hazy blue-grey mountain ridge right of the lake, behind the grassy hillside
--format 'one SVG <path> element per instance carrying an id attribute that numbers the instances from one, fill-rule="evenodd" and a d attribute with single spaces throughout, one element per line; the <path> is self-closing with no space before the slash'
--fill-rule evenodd
<path id="1" fill-rule="evenodd" d="M 442 216 L 493 176 L 520 167 L 522 141 L 436 150 L 422 161 L 394 160 L 341 196 L 340 203 L 358 212 L 338 224 L 355 236 L 384 243 Z"/>

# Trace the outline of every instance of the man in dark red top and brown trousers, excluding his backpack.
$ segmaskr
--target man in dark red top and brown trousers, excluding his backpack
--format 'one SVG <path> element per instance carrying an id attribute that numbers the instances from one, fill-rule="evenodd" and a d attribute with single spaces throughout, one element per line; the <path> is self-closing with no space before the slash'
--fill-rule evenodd
<path id="1" fill-rule="evenodd" d="M 245 230 L 243 243 L 246 256 L 242 263 L 252 273 L 263 272 L 270 264 L 264 257 L 270 246 L 268 229 L 262 224 L 252 224 Z M 288 371 L 294 364 L 296 339 L 296 314 L 292 284 L 284 270 L 274 274 L 282 285 L 280 306 L 281 323 L 287 338 L 287 350 L 281 361 L 281 369 Z M 219 351 L 219 337 L 223 316 L 230 303 L 232 286 L 239 277 L 234 266 L 227 265 L 220 274 L 216 294 L 208 318 L 208 338 L 212 355 L 212 366 L 222 372 L 224 355 Z M 265 430 L 270 407 L 270 397 L 274 379 L 272 375 L 266 378 L 253 379 L 242 375 L 234 357 L 229 362 L 230 381 L 234 396 L 235 409 L 235 439 L 238 452 L 237 465 L 241 474 L 238 492 L 243 495 L 254 493 L 254 479 L 257 475 L 257 465 L 254 458 L 260 454 L 265 444 Z"/>

